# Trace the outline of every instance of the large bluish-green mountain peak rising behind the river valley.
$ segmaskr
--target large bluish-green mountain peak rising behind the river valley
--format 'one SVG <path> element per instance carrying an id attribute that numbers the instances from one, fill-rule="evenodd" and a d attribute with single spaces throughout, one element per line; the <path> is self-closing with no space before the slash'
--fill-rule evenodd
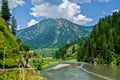
<path id="1" fill-rule="evenodd" d="M 17 37 L 34 49 L 57 48 L 63 44 L 88 36 L 90 31 L 63 18 L 48 18 L 19 30 Z"/>

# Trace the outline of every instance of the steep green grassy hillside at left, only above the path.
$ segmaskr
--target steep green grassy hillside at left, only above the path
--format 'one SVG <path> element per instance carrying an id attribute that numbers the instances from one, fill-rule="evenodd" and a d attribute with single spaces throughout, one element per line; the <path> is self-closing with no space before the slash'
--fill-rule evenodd
<path id="1" fill-rule="evenodd" d="M 18 59 L 22 56 L 20 44 L 16 37 L 10 32 L 4 19 L 0 17 L 0 67 L 3 65 L 3 53 L 5 49 L 6 67 L 18 65 Z"/>

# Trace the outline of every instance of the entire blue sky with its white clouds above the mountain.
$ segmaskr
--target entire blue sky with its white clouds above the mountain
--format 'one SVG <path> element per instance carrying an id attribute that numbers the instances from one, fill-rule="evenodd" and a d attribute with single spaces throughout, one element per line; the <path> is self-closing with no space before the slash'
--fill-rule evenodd
<path id="1" fill-rule="evenodd" d="M 0 0 L 1 1 L 1 0 Z M 65 18 L 90 26 L 101 17 L 120 10 L 120 0 L 8 0 L 18 28 L 26 28 L 45 18 Z"/>

